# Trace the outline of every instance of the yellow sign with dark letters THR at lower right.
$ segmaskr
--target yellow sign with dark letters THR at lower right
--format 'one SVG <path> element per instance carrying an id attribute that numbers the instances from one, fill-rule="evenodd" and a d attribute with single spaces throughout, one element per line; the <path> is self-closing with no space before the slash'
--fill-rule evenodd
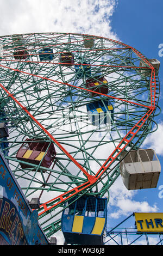
<path id="1" fill-rule="evenodd" d="M 135 212 L 137 231 L 163 232 L 163 212 Z"/>

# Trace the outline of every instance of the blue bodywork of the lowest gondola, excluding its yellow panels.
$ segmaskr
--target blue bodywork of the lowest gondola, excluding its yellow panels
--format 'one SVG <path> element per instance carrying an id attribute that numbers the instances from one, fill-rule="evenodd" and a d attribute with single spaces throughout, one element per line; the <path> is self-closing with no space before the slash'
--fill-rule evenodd
<path id="1" fill-rule="evenodd" d="M 68 203 L 71 203 L 71 200 Z M 61 219 L 62 232 L 66 242 L 72 245 L 103 245 L 104 230 L 102 235 L 92 234 L 92 230 L 96 222 L 95 216 L 105 218 L 106 224 L 107 198 L 81 197 L 67 209 L 63 212 Z M 65 214 L 70 210 L 72 215 Z M 82 213 L 78 216 L 84 216 L 82 233 L 72 232 L 73 220 L 77 212 Z"/>

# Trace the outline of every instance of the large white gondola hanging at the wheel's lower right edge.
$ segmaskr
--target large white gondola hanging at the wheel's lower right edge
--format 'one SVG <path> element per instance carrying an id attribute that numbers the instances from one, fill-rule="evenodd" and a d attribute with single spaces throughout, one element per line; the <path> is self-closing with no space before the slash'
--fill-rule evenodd
<path id="1" fill-rule="evenodd" d="M 121 159 L 127 154 L 121 154 Z M 128 190 L 156 187 L 161 165 L 153 149 L 131 150 L 120 164 L 121 176 Z"/>

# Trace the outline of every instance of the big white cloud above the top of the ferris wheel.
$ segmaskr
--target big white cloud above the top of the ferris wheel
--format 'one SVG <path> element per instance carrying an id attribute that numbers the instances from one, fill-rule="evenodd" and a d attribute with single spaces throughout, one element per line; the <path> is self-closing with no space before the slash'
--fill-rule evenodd
<path id="1" fill-rule="evenodd" d="M 0 35 L 71 32 L 117 39 L 110 18 L 117 0 L 1 0 Z"/>

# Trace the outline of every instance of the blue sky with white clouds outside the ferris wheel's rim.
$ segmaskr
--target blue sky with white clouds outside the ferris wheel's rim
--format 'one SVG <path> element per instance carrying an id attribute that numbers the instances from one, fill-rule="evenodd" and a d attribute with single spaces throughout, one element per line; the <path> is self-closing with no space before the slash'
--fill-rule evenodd
<path id="1" fill-rule="evenodd" d="M 162 0 L 1 0 L 0 35 L 37 32 L 72 32 L 101 35 L 122 41 L 161 62 L 159 78 L 162 103 L 163 44 Z M 146 140 L 145 147 L 158 153 L 163 166 L 163 113 L 156 117 L 159 129 Z M 111 187 L 108 225 L 116 225 L 134 211 L 163 212 L 161 173 L 158 187 L 127 191 L 121 178 Z M 163 193 L 162 193 L 163 194 Z M 125 207 L 124 207 L 125 206 Z M 130 223 L 132 225 L 132 223 Z M 134 225 L 134 223 L 133 223 Z"/>

